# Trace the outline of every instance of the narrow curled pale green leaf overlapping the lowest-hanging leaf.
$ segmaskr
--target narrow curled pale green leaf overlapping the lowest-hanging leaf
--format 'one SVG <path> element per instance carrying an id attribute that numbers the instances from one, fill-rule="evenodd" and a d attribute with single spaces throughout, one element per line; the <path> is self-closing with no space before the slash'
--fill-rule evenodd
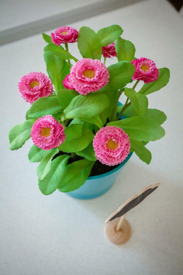
<path id="1" fill-rule="evenodd" d="M 45 178 L 51 169 L 52 158 L 59 152 L 59 149 L 53 149 L 41 160 L 41 163 L 37 167 L 37 175 L 41 180 Z"/>

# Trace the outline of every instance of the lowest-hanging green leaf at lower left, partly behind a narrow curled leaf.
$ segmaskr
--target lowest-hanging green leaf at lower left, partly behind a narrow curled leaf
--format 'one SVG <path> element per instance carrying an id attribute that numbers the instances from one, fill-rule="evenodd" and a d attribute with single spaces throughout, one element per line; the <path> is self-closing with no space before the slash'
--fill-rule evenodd
<path id="1" fill-rule="evenodd" d="M 67 168 L 68 155 L 58 156 L 52 161 L 51 170 L 46 178 L 38 178 L 39 189 L 44 195 L 52 194 L 62 184 Z"/>

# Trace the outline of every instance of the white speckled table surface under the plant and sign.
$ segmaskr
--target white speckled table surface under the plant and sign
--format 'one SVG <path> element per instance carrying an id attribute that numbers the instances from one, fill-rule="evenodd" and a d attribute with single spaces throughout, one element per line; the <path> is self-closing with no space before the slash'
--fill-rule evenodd
<path id="1" fill-rule="evenodd" d="M 77 200 L 59 191 L 44 196 L 38 189 L 38 164 L 27 157 L 31 140 L 10 151 L 8 132 L 25 120 L 30 107 L 20 97 L 17 83 L 31 71 L 46 72 L 46 44 L 36 35 L 1 46 L 0 274 L 183 273 L 183 21 L 165 0 L 150 0 L 71 26 L 97 30 L 110 24 L 122 26 L 123 38 L 136 46 L 136 57 L 151 58 L 158 68 L 170 69 L 168 85 L 148 96 L 150 108 L 167 114 L 166 135 L 147 146 L 152 152 L 149 166 L 134 154 L 103 196 Z M 76 47 L 70 50 L 80 58 Z M 160 187 L 127 215 L 131 239 L 123 246 L 110 243 L 104 235 L 105 219 L 156 182 Z"/>

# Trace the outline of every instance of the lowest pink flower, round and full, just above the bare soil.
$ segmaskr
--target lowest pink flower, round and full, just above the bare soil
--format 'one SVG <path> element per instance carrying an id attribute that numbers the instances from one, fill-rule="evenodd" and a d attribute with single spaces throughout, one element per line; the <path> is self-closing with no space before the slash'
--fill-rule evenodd
<path id="1" fill-rule="evenodd" d="M 93 148 L 97 160 L 109 166 L 122 163 L 130 153 L 128 135 L 119 127 L 101 128 L 93 139 Z"/>

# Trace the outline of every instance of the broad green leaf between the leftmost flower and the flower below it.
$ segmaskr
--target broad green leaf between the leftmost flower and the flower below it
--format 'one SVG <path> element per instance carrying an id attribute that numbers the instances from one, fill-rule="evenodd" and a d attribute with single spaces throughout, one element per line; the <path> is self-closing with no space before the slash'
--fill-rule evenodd
<path id="1" fill-rule="evenodd" d="M 57 112 L 61 112 L 59 101 L 56 96 L 51 97 L 40 97 L 34 101 L 28 110 L 27 114 L 29 117 L 39 118 L 45 115 L 53 115 Z"/>

